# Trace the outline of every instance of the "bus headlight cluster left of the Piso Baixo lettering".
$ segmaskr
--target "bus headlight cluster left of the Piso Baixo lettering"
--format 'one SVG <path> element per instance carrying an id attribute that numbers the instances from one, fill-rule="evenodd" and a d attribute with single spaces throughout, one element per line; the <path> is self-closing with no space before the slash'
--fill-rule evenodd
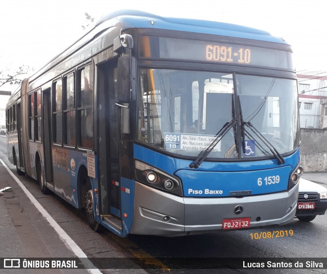
<path id="1" fill-rule="evenodd" d="M 161 191 L 183 196 L 181 182 L 178 178 L 138 160 L 135 160 L 135 177 L 140 183 L 159 188 Z"/>

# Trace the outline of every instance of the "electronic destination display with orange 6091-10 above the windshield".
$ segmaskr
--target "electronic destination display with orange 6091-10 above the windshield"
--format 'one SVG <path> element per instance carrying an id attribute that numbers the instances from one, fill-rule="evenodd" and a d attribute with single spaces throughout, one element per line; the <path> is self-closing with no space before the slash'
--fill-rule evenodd
<path id="1" fill-rule="evenodd" d="M 230 65 L 269 67 L 294 70 L 289 50 L 226 43 L 226 40 L 204 41 L 172 37 L 142 36 L 141 57 L 193 60 Z M 246 39 L 243 39 L 246 42 Z M 259 44 L 259 41 L 258 41 Z M 285 48 L 285 46 L 283 46 Z"/>

